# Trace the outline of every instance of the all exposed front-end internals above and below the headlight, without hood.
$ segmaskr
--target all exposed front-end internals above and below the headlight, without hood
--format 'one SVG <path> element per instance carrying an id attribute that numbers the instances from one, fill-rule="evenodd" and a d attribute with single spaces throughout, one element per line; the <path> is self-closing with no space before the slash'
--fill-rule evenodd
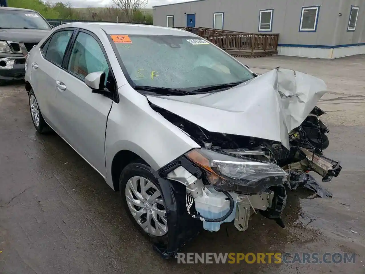
<path id="1" fill-rule="evenodd" d="M 280 142 L 208 132 L 169 111 L 157 106 L 152 107 L 203 148 L 231 154 L 235 157 L 270 162 L 281 167 L 289 175 L 283 179 L 284 184 L 281 177 L 278 176 L 274 177 L 278 178 L 276 185 L 265 188 L 265 184 L 258 181 L 262 188 L 250 191 L 245 191 L 234 184 L 231 185 L 231 188 L 226 185 L 220 189 L 218 184 L 212 184 L 212 180 L 204 178 L 204 176 L 200 184 L 194 180 L 193 188 L 189 188 L 192 186 L 192 182 L 187 182 L 185 186 L 187 186 L 188 192 L 186 201 L 188 213 L 203 221 L 204 229 L 218 231 L 222 222 L 234 220 L 235 227 L 239 231 L 245 231 L 248 228 L 249 217 L 254 213 L 261 213 L 263 216 L 275 220 L 284 228 L 281 213 L 287 199 L 285 187 L 291 190 L 305 187 L 315 191 L 320 197 L 332 197 L 331 193 L 322 189 L 308 174 L 309 171 L 314 171 L 323 177 L 323 182 L 328 182 L 333 176 L 337 177 L 342 168 L 339 162 L 323 156 L 323 150 L 329 144 L 326 136 L 329 130 L 319 119 L 324 112 L 318 107 L 312 110 L 301 126 L 289 133 L 290 149 L 285 148 Z M 180 178 L 176 180 L 181 182 L 181 178 L 194 177 L 192 174 L 188 176 L 179 174 L 179 172 L 187 172 L 182 167 L 180 167 L 182 170 L 179 168 L 173 170 L 174 168 L 176 167 L 169 167 L 165 172 L 169 179 Z M 212 187 L 214 184 L 215 187 Z M 201 190 L 196 192 L 199 187 Z M 226 199 L 227 197 L 228 199 Z M 193 203 L 195 213 L 191 213 Z"/>

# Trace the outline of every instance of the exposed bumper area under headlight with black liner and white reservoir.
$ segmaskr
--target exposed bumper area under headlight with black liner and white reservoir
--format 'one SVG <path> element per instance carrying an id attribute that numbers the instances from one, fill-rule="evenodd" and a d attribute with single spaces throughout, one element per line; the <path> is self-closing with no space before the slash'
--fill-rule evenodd
<path id="1" fill-rule="evenodd" d="M 245 231 L 254 213 L 273 219 L 284 227 L 280 217 L 287 201 L 283 184 L 253 195 L 217 191 L 210 184 L 203 183 L 204 173 L 185 156 L 155 172 L 166 205 L 169 227 L 167 245 L 154 246 L 162 258 L 176 256 L 180 248 L 197 236 L 202 228 L 218 231 L 223 222 L 234 222 L 239 231 Z"/>

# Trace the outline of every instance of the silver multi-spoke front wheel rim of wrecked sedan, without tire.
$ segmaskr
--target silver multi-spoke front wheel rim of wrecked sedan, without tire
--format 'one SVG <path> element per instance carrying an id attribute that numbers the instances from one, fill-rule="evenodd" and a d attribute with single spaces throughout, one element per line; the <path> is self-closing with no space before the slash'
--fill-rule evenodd
<path id="1" fill-rule="evenodd" d="M 165 204 L 157 186 L 141 176 L 130 178 L 126 184 L 127 205 L 144 231 L 153 236 L 167 233 Z"/>

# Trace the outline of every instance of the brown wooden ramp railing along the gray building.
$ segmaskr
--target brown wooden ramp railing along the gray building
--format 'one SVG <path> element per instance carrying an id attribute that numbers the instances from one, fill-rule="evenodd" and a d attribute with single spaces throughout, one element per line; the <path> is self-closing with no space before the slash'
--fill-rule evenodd
<path id="1" fill-rule="evenodd" d="M 260 55 L 262 52 L 277 52 L 279 34 L 242 33 L 211 28 L 179 27 L 199 35 L 224 50 L 245 52 L 245 55 Z"/>

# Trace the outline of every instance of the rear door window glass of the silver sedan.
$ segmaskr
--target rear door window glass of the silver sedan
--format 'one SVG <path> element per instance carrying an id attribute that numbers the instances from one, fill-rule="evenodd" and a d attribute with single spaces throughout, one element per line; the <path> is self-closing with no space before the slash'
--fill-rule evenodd
<path id="1" fill-rule="evenodd" d="M 58 31 L 53 34 L 46 52 L 46 58 L 58 65 L 62 64 L 67 44 L 72 36 L 73 30 Z"/>

